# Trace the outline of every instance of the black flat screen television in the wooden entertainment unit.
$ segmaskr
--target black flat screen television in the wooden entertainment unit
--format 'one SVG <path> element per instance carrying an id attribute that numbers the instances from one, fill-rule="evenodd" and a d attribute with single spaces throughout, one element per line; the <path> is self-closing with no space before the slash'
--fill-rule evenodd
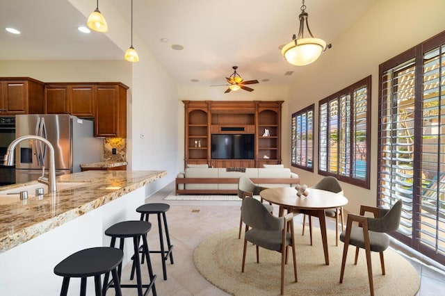
<path id="1" fill-rule="evenodd" d="M 254 134 L 211 135 L 211 158 L 254 159 Z"/>

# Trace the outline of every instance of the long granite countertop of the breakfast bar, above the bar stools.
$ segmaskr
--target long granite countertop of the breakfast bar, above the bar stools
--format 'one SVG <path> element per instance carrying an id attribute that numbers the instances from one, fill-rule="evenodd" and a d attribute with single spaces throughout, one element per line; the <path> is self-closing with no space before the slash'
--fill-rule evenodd
<path id="1" fill-rule="evenodd" d="M 0 253 L 74 220 L 166 174 L 165 171 L 87 171 L 58 176 L 57 182 L 85 184 L 47 193 L 42 199 L 29 197 L 25 203 L 19 201 L 0 206 Z M 35 183 L 37 181 L 26 184 Z M 2 186 L 0 190 L 22 185 Z"/>

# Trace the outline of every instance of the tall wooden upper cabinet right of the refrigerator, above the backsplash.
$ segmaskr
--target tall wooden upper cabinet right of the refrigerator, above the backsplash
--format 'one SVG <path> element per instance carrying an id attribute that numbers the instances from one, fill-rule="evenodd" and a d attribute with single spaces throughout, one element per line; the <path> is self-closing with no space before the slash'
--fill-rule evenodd
<path id="1" fill-rule="evenodd" d="M 127 137 L 127 89 L 119 85 L 97 85 L 95 136 Z"/>

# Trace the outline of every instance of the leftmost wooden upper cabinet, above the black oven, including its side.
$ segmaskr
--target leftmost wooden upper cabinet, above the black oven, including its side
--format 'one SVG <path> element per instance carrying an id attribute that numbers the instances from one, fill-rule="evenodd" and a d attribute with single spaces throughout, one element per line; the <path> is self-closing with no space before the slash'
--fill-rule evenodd
<path id="1" fill-rule="evenodd" d="M 43 83 L 29 77 L 0 78 L 0 114 L 43 113 Z"/>

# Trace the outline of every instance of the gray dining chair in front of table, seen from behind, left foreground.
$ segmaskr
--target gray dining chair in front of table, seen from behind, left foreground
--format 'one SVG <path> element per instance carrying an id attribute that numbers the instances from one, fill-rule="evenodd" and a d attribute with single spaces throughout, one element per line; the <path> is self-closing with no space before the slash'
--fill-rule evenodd
<path id="1" fill-rule="evenodd" d="M 257 263 L 259 263 L 259 247 L 281 252 L 281 295 L 284 293 L 284 263 L 286 263 L 288 247 L 292 248 L 293 272 L 297 279 L 297 262 L 295 253 L 295 236 L 293 235 L 293 214 L 275 217 L 257 199 L 246 197 L 241 206 L 243 222 L 245 223 L 243 265 L 248 241 L 257 249 Z M 249 227 L 251 229 L 249 229 Z M 288 231 L 288 227 L 289 230 Z"/>

